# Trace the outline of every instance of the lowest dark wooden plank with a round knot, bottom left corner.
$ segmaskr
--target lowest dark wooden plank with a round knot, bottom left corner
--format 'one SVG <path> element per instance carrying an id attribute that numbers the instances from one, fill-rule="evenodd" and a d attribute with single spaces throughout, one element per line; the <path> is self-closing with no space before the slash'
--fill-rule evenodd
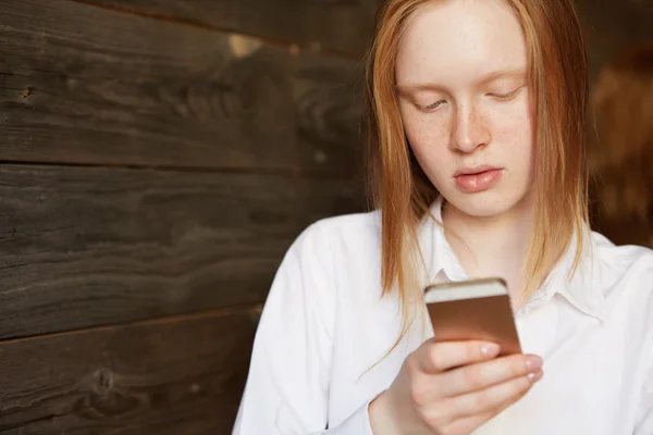
<path id="1" fill-rule="evenodd" d="M 254 332 L 241 310 L 0 344 L 0 433 L 227 434 Z"/>

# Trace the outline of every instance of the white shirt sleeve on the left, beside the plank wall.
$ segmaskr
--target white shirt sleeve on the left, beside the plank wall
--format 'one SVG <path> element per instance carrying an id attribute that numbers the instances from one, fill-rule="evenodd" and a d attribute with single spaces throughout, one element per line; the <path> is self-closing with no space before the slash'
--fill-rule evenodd
<path id="1" fill-rule="evenodd" d="M 372 435 L 368 403 L 326 428 L 335 319 L 333 254 L 319 223 L 286 252 L 257 328 L 233 435 Z"/>

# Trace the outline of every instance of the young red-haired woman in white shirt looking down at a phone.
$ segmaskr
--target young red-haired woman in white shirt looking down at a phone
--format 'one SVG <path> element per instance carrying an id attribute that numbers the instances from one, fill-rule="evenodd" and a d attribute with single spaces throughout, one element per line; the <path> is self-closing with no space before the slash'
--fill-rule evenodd
<path id="1" fill-rule="evenodd" d="M 571 0 L 389 0 L 377 211 L 295 240 L 233 433 L 653 434 L 653 254 L 587 224 Z M 427 284 L 503 277 L 525 355 L 438 343 Z"/>

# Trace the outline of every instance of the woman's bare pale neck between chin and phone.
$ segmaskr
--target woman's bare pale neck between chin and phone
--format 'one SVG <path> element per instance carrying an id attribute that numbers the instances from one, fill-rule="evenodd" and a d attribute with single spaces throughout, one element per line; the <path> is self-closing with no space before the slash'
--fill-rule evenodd
<path id="1" fill-rule="evenodd" d="M 475 278 L 502 277 L 518 306 L 533 232 L 532 201 L 489 217 L 471 216 L 449 203 L 442 213 L 447 241 L 467 273 Z"/>

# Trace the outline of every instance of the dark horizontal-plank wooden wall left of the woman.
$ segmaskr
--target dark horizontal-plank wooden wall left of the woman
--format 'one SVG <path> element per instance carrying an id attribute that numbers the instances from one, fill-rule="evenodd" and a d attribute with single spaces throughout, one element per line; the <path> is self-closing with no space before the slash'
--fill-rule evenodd
<path id="1" fill-rule="evenodd" d="M 0 1 L 0 433 L 226 434 L 309 223 L 364 209 L 375 0 Z"/>

